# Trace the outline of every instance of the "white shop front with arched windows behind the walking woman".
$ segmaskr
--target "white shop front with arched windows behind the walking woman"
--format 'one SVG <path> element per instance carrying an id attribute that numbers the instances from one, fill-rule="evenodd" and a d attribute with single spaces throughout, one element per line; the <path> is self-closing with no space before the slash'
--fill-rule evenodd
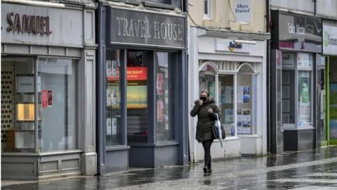
<path id="1" fill-rule="evenodd" d="M 191 27 L 189 108 L 209 91 L 225 128 L 225 155 L 215 140 L 212 158 L 267 153 L 266 39 L 269 34 L 223 32 Z M 190 118 L 192 162 L 204 159 L 195 140 L 197 118 Z"/>

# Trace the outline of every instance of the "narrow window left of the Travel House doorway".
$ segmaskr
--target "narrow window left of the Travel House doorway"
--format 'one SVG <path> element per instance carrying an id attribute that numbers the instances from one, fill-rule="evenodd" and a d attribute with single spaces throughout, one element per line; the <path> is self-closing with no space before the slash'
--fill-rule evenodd
<path id="1" fill-rule="evenodd" d="M 106 68 L 106 146 L 122 144 L 121 128 L 121 63 L 123 53 L 119 49 L 107 50 Z"/>

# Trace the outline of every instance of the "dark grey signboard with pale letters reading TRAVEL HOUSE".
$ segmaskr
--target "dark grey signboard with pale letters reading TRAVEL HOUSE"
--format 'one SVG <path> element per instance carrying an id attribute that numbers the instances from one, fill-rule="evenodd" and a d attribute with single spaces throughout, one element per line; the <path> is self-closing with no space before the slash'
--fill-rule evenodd
<path id="1" fill-rule="evenodd" d="M 110 44 L 185 48 L 185 17 L 111 8 Z"/>

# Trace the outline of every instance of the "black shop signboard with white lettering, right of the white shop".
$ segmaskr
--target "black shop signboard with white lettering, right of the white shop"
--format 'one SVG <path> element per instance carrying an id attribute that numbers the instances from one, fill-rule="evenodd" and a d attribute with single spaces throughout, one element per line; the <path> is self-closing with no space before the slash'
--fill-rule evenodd
<path id="1" fill-rule="evenodd" d="M 322 20 L 272 11 L 272 48 L 322 53 Z"/>

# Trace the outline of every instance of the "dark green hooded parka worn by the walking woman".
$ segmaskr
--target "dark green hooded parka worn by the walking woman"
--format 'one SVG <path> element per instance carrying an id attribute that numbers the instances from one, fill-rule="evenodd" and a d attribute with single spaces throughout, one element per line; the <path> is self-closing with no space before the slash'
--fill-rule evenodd
<path id="1" fill-rule="evenodd" d="M 194 101 L 194 103 L 195 105 L 191 110 L 190 115 L 192 117 L 198 115 L 195 139 L 197 139 L 199 142 L 215 139 L 213 137 L 212 127 L 214 125 L 214 121 L 216 120 L 216 114 L 214 113 L 219 113 L 218 106 L 216 106 L 216 103 L 213 101 L 213 99 L 202 103 L 202 105 L 199 105 L 199 100 Z M 213 113 L 209 113 L 209 108 L 213 109 Z"/>

